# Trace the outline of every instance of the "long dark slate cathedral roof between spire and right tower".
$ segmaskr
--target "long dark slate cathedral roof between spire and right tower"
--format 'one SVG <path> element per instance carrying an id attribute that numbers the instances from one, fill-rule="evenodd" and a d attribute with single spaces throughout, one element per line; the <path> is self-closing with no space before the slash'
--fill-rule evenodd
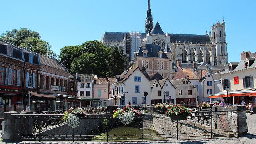
<path id="1" fill-rule="evenodd" d="M 210 36 L 209 35 L 197 35 L 197 34 L 168 34 L 170 36 L 170 42 L 174 43 L 207 43 L 210 44 Z"/>

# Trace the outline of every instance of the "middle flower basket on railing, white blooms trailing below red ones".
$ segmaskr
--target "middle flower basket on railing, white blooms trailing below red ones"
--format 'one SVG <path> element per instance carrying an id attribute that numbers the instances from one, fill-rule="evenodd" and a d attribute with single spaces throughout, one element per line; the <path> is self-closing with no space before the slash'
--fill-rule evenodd
<path id="1" fill-rule="evenodd" d="M 130 108 L 130 106 L 125 106 L 123 109 L 118 108 L 114 111 L 113 118 L 118 118 L 118 121 L 127 125 L 134 121 L 136 116 L 139 116 L 138 110 Z"/>

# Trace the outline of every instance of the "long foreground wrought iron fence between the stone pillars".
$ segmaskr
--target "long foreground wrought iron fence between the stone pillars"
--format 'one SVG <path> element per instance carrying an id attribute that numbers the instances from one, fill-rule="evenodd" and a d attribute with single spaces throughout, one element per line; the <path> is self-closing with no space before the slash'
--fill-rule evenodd
<path id="1" fill-rule="evenodd" d="M 198 121 L 193 116 L 197 113 L 210 117 L 210 123 Z M 126 126 L 112 114 L 87 114 L 76 128 L 64 123 L 62 114 L 13 116 L 16 140 L 144 141 L 238 136 L 238 111 L 193 112 L 186 121 L 172 121 L 164 113 L 148 113 Z"/>

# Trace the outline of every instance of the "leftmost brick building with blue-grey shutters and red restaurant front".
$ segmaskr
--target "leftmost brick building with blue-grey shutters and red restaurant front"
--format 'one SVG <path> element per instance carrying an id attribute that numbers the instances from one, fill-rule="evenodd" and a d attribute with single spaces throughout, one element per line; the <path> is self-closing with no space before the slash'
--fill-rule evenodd
<path id="1" fill-rule="evenodd" d="M 0 41 L 0 103 L 13 105 L 22 101 L 23 50 Z"/>

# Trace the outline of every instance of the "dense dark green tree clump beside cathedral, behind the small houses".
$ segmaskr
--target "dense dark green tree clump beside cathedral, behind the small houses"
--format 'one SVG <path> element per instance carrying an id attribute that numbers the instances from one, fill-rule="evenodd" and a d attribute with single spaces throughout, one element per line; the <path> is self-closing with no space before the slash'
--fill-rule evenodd
<path id="1" fill-rule="evenodd" d="M 60 62 L 65 64 L 71 73 L 95 74 L 98 77 L 116 76 L 125 68 L 126 56 L 122 50 L 107 48 L 99 41 L 87 41 L 81 46 L 66 46 L 60 50 Z"/>

